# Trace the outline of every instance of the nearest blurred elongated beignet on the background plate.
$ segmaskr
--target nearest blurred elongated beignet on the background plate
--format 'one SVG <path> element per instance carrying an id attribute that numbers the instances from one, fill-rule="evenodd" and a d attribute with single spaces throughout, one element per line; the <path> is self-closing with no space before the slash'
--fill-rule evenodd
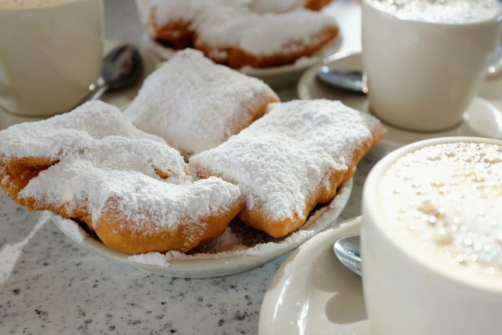
<path id="1" fill-rule="evenodd" d="M 309 57 L 337 35 L 335 20 L 320 12 L 241 14 L 227 7 L 201 21 L 194 46 L 232 68 L 268 68 Z"/>

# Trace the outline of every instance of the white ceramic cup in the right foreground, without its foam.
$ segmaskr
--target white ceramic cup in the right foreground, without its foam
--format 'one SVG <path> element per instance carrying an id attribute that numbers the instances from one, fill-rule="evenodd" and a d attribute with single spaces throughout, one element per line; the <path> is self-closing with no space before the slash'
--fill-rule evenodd
<path id="1" fill-rule="evenodd" d="M 362 282 L 371 335 L 499 334 L 502 282 L 474 281 L 407 249 L 379 203 L 379 182 L 407 153 L 439 143 L 502 141 L 451 137 L 410 144 L 369 173 L 362 195 Z M 472 208 L 474 210 L 474 208 Z M 393 234 L 395 233 L 395 234 Z M 459 271 L 459 273 L 462 273 Z"/>

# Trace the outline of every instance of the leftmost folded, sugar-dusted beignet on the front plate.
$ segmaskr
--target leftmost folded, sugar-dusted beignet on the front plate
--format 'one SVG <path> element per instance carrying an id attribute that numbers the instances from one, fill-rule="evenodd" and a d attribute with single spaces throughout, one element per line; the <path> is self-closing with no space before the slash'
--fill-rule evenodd
<path id="1" fill-rule="evenodd" d="M 175 149 L 103 102 L 12 126 L 0 143 L 9 196 L 84 222 L 120 252 L 186 252 L 220 236 L 242 208 L 237 187 L 193 181 Z"/>

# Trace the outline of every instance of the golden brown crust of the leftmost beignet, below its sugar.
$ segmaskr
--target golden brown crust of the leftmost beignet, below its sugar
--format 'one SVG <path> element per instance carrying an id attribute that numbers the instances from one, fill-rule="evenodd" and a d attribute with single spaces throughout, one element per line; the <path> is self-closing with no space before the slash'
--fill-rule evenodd
<path id="1" fill-rule="evenodd" d="M 185 217 L 179 220 L 175 228 L 165 227 L 157 230 L 138 232 L 137 225 L 128 220 L 117 210 L 117 200 L 108 199 L 95 226 L 86 201 L 82 203 L 61 202 L 58 204 L 36 200 L 31 197 L 21 198 L 19 192 L 36 177 L 38 173 L 57 163 L 44 158 L 7 159 L 0 157 L 1 186 L 7 195 L 31 210 L 51 210 L 65 218 L 84 222 L 89 230 L 94 231 L 104 245 L 123 253 L 147 253 L 151 251 L 167 252 L 175 250 L 186 252 L 198 245 L 216 239 L 223 234 L 228 223 L 244 207 L 244 201 L 228 204 L 220 211 L 202 218 Z M 158 168 L 159 176 L 169 177 L 169 173 Z M 144 222 L 146 227 L 153 226 L 155 219 Z"/>

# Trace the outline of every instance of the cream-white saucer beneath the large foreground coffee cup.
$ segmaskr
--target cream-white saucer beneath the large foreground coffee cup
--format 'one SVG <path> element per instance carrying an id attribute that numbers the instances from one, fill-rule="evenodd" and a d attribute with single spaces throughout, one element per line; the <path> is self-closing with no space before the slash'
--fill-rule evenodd
<path id="1" fill-rule="evenodd" d="M 333 253 L 336 240 L 359 230 L 360 217 L 344 221 L 284 261 L 265 293 L 259 335 L 369 334 L 361 278 Z"/>

